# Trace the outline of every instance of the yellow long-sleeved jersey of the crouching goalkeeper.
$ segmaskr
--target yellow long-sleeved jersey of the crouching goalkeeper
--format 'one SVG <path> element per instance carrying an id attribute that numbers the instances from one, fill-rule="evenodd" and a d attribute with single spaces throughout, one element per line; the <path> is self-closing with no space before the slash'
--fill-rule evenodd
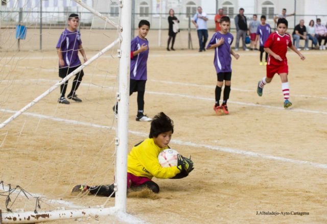
<path id="1" fill-rule="evenodd" d="M 143 142 L 135 145 L 127 157 L 127 172 L 137 177 L 173 178 L 180 172 L 176 166 L 161 167 L 158 155 L 162 150 L 154 143 L 153 138 L 147 138 Z"/>

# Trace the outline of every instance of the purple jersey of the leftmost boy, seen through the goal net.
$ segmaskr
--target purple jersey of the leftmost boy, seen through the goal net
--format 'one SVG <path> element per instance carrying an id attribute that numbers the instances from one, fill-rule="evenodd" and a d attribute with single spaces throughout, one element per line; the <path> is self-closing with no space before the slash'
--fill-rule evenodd
<path id="1" fill-rule="evenodd" d="M 78 58 L 78 46 L 82 44 L 81 34 L 79 31 L 68 31 L 65 29 L 58 40 L 56 48 L 60 48 L 62 59 L 65 62 L 63 67 L 76 67 L 81 65 Z"/>

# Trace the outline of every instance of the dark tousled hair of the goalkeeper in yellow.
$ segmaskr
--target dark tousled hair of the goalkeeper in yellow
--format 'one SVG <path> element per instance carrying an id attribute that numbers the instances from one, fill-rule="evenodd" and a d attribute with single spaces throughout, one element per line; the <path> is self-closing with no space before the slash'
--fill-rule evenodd
<path id="1" fill-rule="evenodd" d="M 156 138 L 164 132 L 174 133 L 174 122 L 164 112 L 160 112 L 153 117 L 149 138 Z"/>

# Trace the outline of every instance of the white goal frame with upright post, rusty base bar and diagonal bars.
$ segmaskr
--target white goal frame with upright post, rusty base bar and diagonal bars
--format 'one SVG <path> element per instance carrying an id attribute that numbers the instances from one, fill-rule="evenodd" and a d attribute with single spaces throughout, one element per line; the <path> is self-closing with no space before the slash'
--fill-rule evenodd
<path id="1" fill-rule="evenodd" d="M 97 55 L 89 59 L 86 63 L 82 64 L 78 69 L 69 73 L 66 78 L 56 83 L 50 89 L 42 93 L 35 98 L 31 103 L 12 115 L 6 121 L 0 124 L 0 129 L 5 127 L 9 122 L 16 117 L 27 111 L 43 97 L 50 94 L 54 89 L 58 88 L 66 80 L 73 77 L 77 72 L 82 70 L 85 66 L 89 65 L 92 61 L 99 58 L 106 51 L 112 48 L 116 43 L 120 42 L 120 49 L 118 50 L 119 57 L 119 90 L 116 94 L 116 101 L 119 105 L 118 121 L 117 121 L 117 135 L 115 138 L 116 145 L 116 159 L 115 159 L 115 205 L 111 208 L 81 208 L 81 209 L 66 209 L 66 210 L 54 210 L 54 211 L 39 211 L 34 213 L 30 212 L 16 212 L 8 213 L 2 212 L 0 223 L 36 223 L 57 219 L 71 219 L 79 217 L 87 217 L 93 215 L 115 215 L 120 218 L 126 217 L 129 219 L 127 222 L 139 222 L 137 218 L 131 218 L 126 213 L 126 194 L 127 194 L 127 152 L 128 152 L 128 101 L 129 101 L 129 71 L 130 71 L 130 42 L 131 42 L 131 13 L 132 13 L 132 1 L 120 0 L 120 24 L 115 24 L 107 17 L 101 15 L 96 10 L 86 6 L 80 0 L 74 0 L 96 16 L 104 19 L 112 26 L 118 29 L 119 38 L 113 43 L 102 49 Z M 0 217 L 1 217 L 0 216 Z M 125 220 L 126 221 L 126 220 Z"/>

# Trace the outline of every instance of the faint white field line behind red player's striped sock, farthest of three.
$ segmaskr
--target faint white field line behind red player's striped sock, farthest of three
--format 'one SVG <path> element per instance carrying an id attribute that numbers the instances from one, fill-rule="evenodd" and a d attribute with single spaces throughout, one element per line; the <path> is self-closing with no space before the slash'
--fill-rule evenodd
<path id="1" fill-rule="evenodd" d="M 3 65 L 5 67 L 11 67 L 11 65 Z M 36 68 L 36 67 L 24 67 L 24 66 L 15 66 L 15 68 L 21 68 L 21 69 L 37 69 L 37 70 L 44 70 L 44 71 L 53 71 L 53 72 L 58 72 L 58 69 L 54 68 Z M 113 76 L 112 74 L 98 74 L 98 73 L 91 73 L 87 74 L 86 76 L 99 76 L 99 77 L 108 77 L 108 78 L 116 78 L 116 76 Z M 5 81 L 5 80 L 3 80 Z M 193 83 L 181 83 L 181 82 L 172 82 L 172 81 L 163 81 L 163 80 L 156 80 L 156 79 L 149 79 L 148 81 L 151 82 L 159 82 L 159 83 L 165 83 L 165 84 L 170 84 L 170 85 L 180 85 L 180 86 L 194 86 L 194 87 L 200 87 L 200 88 L 207 88 L 207 89 L 212 89 L 214 88 L 214 85 L 202 85 L 202 84 L 193 84 Z M 249 90 L 249 89 L 238 89 L 231 87 L 231 90 L 233 91 L 239 91 L 239 92 L 255 92 L 255 89 Z M 292 97 L 305 97 L 305 98 L 319 98 L 319 99 L 327 99 L 327 97 L 323 96 L 312 96 L 312 95 L 296 95 L 292 94 Z"/>

